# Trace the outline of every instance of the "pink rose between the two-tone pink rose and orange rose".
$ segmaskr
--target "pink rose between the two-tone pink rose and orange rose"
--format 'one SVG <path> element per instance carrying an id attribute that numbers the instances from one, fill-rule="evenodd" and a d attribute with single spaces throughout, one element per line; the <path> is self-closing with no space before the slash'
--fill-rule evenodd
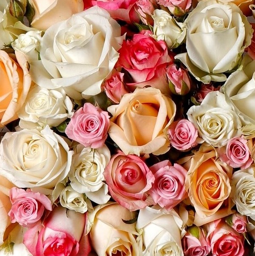
<path id="1" fill-rule="evenodd" d="M 171 210 L 187 197 L 184 188 L 187 170 L 181 165 L 172 166 L 170 161 L 165 160 L 154 164 L 150 170 L 155 176 L 155 181 L 149 193 L 160 207 Z"/>

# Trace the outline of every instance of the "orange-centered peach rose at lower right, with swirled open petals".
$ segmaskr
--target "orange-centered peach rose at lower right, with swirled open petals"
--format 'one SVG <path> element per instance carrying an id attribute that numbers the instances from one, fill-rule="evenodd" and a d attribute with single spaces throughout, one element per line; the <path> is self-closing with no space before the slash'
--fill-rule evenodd
<path id="1" fill-rule="evenodd" d="M 185 189 L 195 207 L 195 225 L 230 214 L 232 167 L 217 161 L 213 147 L 200 147 L 190 161 Z"/>

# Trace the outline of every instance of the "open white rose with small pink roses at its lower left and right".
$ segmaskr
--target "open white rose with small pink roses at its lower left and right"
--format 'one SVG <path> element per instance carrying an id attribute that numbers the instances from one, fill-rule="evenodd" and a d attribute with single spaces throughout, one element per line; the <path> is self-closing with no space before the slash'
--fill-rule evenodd
<path id="1" fill-rule="evenodd" d="M 200 106 L 192 106 L 187 117 L 199 136 L 214 147 L 225 146 L 230 138 L 241 136 L 241 120 L 221 92 L 210 92 Z"/>

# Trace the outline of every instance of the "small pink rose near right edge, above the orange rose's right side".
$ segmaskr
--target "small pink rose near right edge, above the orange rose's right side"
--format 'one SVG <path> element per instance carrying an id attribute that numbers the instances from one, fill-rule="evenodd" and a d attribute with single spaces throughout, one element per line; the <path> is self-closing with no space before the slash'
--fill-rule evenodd
<path id="1" fill-rule="evenodd" d="M 219 148 L 219 157 L 231 167 L 240 169 L 249 168 L 253 161 L 247 140 L 242 137 L 231 138 L 226 147 Z"/>

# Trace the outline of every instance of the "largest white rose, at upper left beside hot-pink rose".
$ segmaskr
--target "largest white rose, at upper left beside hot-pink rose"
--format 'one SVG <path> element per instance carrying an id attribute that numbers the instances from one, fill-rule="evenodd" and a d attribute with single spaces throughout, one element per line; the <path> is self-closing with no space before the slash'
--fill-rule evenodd
<path id="1" fill-rule="evenodd" d="M 52 25 L 42 37 L 41 60 L 31 62 L 33 81 L 63 87 L 74 99 L 97 95 L 119 57 L 120 34 L 119 24 L 96 6 Z"/>

